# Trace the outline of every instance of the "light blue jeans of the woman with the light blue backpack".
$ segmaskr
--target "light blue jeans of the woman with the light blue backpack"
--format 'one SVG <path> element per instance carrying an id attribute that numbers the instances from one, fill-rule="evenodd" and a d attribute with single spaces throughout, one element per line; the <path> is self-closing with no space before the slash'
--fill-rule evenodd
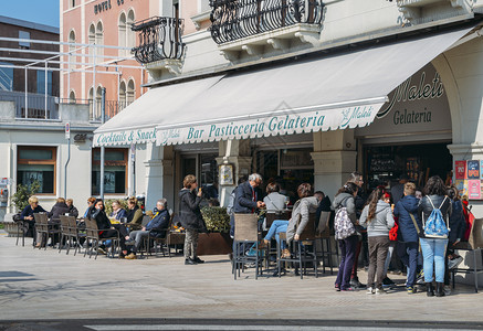
<path id="1" fill-rule="evenodd" d="M 434 278 L 437 282 L 444 282 L 444 254 L 447 252 L 448 239 L 421 238 L 421 250 L 423 258 L 424 281 L 431 282 Z"/>

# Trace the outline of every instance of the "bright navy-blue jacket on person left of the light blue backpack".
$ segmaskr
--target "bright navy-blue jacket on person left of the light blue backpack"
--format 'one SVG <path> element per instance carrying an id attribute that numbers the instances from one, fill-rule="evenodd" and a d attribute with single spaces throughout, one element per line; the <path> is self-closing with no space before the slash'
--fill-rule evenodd
<path id="1" fill-rule="evenodd" d="M 412 223 L 411 216 L 412 214 L 416 218 L 416 223 L 419 226 L 419 231 L 422 231 L 421 218 L 418 214 L 419 199 L 414 195 L 406 195 L 399 200 L 396 204 L 393 214 L 396 217 L 399 217 L 399 234 L 398 241 L 406 243 L 417 243 L 418 242 L 418 233 L 416 231 L 414 224 Z"/>

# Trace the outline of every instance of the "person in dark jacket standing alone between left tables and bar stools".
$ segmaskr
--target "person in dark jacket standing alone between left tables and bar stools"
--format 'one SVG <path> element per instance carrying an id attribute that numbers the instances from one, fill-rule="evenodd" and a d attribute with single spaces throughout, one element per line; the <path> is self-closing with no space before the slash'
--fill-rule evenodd
<path id="1" fill-rule="evenodd" d="M 185 177 L 182 186 L 178 196 L 181 225 L 186 228 L 185 265 L 202 264 L 204 261 L 197 256 L 198 234 L 204 229 L 204 222 L 200 211 L 201 188 L 198 192 L 196 191 L 198 182 L 192 174 Z"/>

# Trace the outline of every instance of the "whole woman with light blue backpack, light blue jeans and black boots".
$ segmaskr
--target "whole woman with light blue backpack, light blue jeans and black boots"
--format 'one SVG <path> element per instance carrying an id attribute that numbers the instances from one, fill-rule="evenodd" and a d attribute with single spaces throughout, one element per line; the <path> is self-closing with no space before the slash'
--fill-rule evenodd
<path id="1" fill-rule="evenodd" d="M 418 207 L 423 231 L 421 232 L 421 250 L 423 257 L 424 282 L 428 297 L 444 296 L 444 257 L 448 247 L 448 220 L 451 215 L 451 201 L 447 196 L 447 186 L 439 175 L 431 177 L 423 190 L 424 196 Z"/>

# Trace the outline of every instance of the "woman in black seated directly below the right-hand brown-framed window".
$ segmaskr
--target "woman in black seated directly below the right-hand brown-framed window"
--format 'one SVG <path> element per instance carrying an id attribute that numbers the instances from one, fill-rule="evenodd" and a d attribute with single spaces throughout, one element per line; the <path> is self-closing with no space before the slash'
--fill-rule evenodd
<path id="1" fill-rule="evenodd" d="M 119 245 L 122 249 L 119 258 L 124 258 L 127 255 L 126 241 L 130 242 L 129 235 L 124 224 L 111 224 L 102 199 L 96 199 L 94 205 L 88 211 L 88 217 L 96 221 L 97 228 L 99 229 L 99 238 L 115 237 L 117 236 L 117 232 L 119 232 Z M 99 253 L 105 254 L 103 247 L 99 247 Z"/>

